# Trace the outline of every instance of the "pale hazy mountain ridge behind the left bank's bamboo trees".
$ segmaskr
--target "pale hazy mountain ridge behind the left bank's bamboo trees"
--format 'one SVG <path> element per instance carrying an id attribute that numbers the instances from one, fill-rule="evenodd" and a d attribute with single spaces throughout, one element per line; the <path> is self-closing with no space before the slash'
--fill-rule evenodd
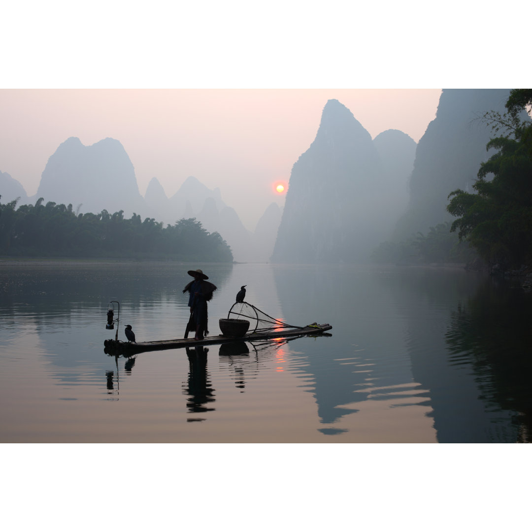
<path id="1" fill-rule="evenodd" d="M 126 218 L 136 213 L 170 225 L 181 218 L 196 218 L 207 231 L 218 232 L 226 240 L 237 262 L 266 261 L 273 250 L 273 243 L 263 235 L 255 242 L 236 211 L 223 202 L 219 188 L 211 190 L 193 176 L 170 198 L 153 178 L 145 197 L 141 196 L 131 160 L 122 144 L 112 138 L 92 146 L 84 146 L 77 137 L 66 139 L 49 157 L 34 197 L 28 198 L 22 185 L 7 173 L 0 174 L 0 194 L 2 203 L 20 197 L 22 205 L 43 197 L 45 203 L 71 204 L 81 213 L 122 210 Z M 266 220 L 261 231 L 277 235 L 277 219 Z"/>

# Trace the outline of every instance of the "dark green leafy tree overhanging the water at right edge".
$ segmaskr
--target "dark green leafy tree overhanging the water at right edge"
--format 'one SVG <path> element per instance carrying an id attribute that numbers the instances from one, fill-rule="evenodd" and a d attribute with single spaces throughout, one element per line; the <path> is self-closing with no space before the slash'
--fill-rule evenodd
<path id="1" fill-rule="evenodd" d="M 507 113 L 484 115 L 495 133 L 503 132 L 486 146 L 497 151 L 481 163 L 476 193 L 454 190 L 447 205 L 456 217 L 451 231 L 502 271 L 532 264 L 532 122 L 523 119 L 531 104 L 532 89 L 513 89 Z"/>

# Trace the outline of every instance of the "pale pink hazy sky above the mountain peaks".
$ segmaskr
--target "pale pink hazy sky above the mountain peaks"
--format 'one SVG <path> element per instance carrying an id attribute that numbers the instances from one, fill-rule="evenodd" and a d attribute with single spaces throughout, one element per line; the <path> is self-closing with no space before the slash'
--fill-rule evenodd
<path id="1" fill-rule="evenodd" d="M 0 171 L 28 195 L 48 158 L 69 137 L 92 145 L 119 140 L 144 195 L 156 177 L 167 196 L 188 176 L 209 188 L 253 230 L 284 196 L 328 99 L 336 98 L 375 138 L 399 129 L 416 142 L 435 118 L 440 89 L 2 89 Z M 53 201 L 53 198 L 49 198 Z"/>

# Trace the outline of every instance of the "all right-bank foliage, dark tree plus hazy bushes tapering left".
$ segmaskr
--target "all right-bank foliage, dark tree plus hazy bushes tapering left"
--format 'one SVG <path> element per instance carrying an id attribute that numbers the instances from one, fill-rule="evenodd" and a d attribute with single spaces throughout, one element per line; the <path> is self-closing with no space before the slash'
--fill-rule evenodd
<path id="1" fill-rule="evenodd" d="M 480 164 L 475 193 L 456 189 L 447 211 L 456 219 L 418 232 L 403 242 L 384 242 L 373 251 L 378 263 L 464 263 L 471 269 L 524 275 L 532 265 L 532 122 L 526 114 L 532 89 L 513 89 L 504 114 L 488 111 L 483 120 L 495 149 Z"/>

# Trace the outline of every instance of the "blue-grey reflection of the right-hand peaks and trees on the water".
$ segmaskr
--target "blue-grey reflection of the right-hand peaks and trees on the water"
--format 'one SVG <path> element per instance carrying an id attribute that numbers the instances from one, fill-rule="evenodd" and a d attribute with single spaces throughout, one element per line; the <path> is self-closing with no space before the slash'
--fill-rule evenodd
<path id="1" fill-rule="evenodd" d="M 525 357 L 532 315 L 521 293 L 495 294 L 484 277 L 463 270 L 274 271 L 290 322 L 333 325 L 331 338 L 303 346 L 321 423 L 340 429 L 342 416 L 359 405 L 408 394 L 431 408 L 440 443 L 512 442 L 530 434 Z"/>

